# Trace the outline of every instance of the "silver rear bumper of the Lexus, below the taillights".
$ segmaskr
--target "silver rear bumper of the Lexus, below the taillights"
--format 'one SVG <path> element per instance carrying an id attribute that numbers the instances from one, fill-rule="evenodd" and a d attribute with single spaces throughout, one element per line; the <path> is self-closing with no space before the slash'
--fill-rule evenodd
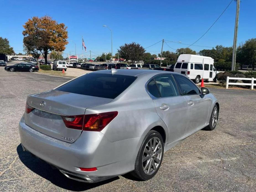
<path id="1" fill-rule="evenodd" d="M 23 117 L 19 123 L 19 133 L 21 144 L 27 151 L 69 175 L 90 178 L 90 182 L 103 179 L 98 177 L 107 179 L 134 170 L 143 140 L 142 137 L 136 137 L 110 142 L 100 132 L 82 131 L 74 143 L 67 143 L 30 128 Z M 97 171 L 85 172 L 79 167 L 97 167 Z"/>

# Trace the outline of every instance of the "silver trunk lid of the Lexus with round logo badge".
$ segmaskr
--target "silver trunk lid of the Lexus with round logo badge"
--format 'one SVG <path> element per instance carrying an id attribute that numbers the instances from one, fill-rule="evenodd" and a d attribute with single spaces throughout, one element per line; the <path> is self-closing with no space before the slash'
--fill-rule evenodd
<path id="1" fill-rule="evenodd" d="M 29 106 L 25 113 L 25 123 L 31 128 L 66 142 L 74 142 L 82 130 L 67 128 L 62 116 L 84 115 L 86 108 L 112 101 L 109 98 L 93 97 L 58 90 L 50 90 L 27 97 Z"/>

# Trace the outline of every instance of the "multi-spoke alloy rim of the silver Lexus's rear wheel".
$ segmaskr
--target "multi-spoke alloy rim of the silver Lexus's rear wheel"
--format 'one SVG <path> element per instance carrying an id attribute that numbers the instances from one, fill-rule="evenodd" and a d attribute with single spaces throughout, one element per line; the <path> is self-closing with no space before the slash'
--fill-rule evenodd
<path id="1" fill-rule="evenodd" d="M 162 144 L 158 137 L 151 138 L 143 152 L 142 167 L 147 175 L 153 174 L 160 165 Z"/>

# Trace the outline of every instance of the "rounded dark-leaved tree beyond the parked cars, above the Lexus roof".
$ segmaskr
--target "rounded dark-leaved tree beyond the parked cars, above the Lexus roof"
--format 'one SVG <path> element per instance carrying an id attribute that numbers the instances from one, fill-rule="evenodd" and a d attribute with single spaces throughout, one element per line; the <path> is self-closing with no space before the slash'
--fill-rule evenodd
<path id="1" fill-rule="evenodd" d="M 143 53 L 145 53 L 145 49 L 138 43 L 132 42 L 130 44 L 125 43 L 125 45 L 120 46 L 118 50 L 121 58 L 126 59 L 126 61 L 141 61 L 143 59 Z"/>

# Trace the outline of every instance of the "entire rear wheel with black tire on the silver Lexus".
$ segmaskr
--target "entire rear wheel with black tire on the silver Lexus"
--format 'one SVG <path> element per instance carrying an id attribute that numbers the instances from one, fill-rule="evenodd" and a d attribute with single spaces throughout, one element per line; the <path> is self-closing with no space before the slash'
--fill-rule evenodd
<path id="1" fill-rule="evenodd" d="M 163 155 L 164 141 L 162 136 L 157 131 L 149 131 L 139 149 L 132 175 L 144 181 L 151 179 L 159 170 Z"/>

